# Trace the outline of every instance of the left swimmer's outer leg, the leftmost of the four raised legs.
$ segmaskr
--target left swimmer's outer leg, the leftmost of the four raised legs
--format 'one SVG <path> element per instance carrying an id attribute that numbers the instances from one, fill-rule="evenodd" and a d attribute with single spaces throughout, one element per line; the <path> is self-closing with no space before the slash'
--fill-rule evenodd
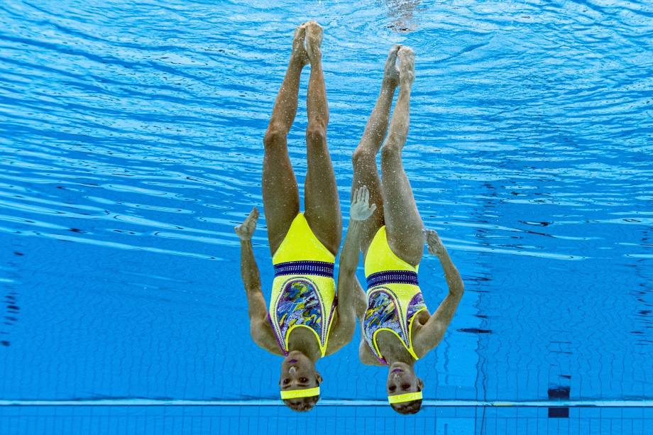
<path id="1" fill-rule="evenodd" d="M 308 60 L 304 50 L 305 32 L 305 24 L 295 29 L 288 69 L 263 138 L 265 156 L 261 187 L 265 221 L 268 224 L 268 241 L 273 255 L 288 232 L 292 219 L 295 219 L 300 211 L 300 194 L 288 156 L 287 135 L 297 114 L 300 75 Z"/>

